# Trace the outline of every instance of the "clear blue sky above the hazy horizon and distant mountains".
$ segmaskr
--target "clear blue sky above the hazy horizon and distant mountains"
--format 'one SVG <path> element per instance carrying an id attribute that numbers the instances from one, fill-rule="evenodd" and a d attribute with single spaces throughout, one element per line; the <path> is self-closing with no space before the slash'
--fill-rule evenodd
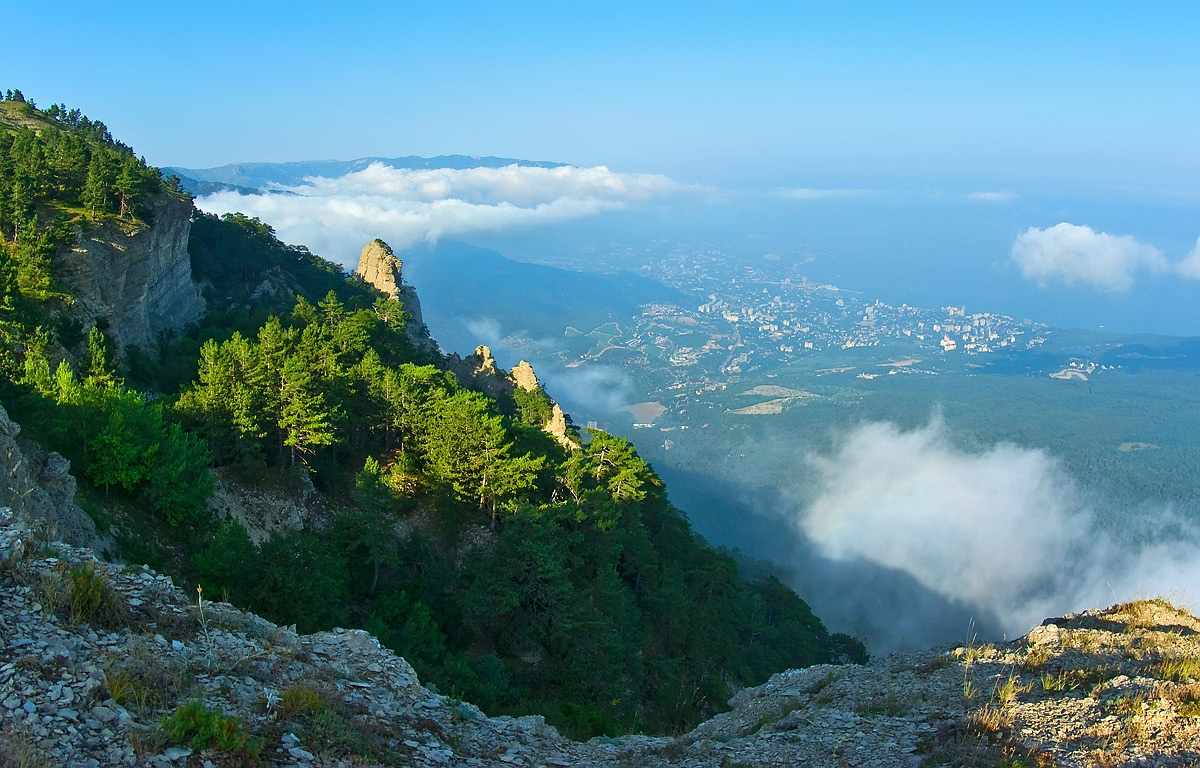
<path id="1" fill-rule="evenodd" d="M 1196 191 L 1195 4 L 980 5 L 52 1 L 6 8 L 0 82 L 160 164 L 462 152 Z"/>

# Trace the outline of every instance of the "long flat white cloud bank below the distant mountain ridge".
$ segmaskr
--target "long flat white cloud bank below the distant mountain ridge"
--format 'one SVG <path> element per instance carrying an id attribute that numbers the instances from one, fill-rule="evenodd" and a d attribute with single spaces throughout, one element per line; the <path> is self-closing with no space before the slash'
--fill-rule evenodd
<path id="1" fill-rule="evenodd" d="M 594 168 L 438 168 L 407 170 L 372 163 L 336 179 L 311 178 L 290 194 L 218 192 L 198 198 L 204 211 L 242 211 L 353 266 L 364 242 L 383 238 L 404 248 L 444 236 L 530 227 L 593 216 L 683 187 L 667 176 Z"/>

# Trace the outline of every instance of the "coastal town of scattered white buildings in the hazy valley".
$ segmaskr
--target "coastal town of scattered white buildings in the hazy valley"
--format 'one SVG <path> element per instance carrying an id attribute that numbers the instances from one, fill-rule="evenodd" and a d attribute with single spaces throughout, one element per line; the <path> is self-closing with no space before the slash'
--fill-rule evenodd
<path id="1" fill-rule="evenodd" d="M 881 362 L 892 362 L 895 371 L 947 355 L 1032 349 L 1048 335 L 1046 326 L 1032 320 L 966 307 L 928 310 L 864 300 L 812 282 L 778 260 L 748 264 L 715 250 L 676 251 L 643 262 L 636 271 L 682 290 L 695 304 L 646 305 L 628 326 L 569 329 L 568 335 L 593 342 L 577 353 L 581 360 L 632 361 L 644 355 L 643 364 L 656 360 L 728 377 L 830 352 L 881 348 L 895 358 Z"/>

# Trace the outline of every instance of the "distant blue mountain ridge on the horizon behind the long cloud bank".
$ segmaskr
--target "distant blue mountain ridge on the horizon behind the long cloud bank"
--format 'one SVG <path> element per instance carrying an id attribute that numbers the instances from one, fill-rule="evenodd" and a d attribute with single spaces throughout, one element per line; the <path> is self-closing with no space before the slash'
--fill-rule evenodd
<path id="1" fill-rule="evenodd" d="M 308 176 L 337 178 L 362 170 L 372 163 L 392 168 L 421 170 L 431 168 L 503 168 L 523 166 L 528 168 L 562 168 L 568 163 L 514 157 L 476 157 L 473 155 L 438 155 L 437 157 L 359 157 L 358 160 L 302 160 L 287 163 L 230 163 L 216 168 L 164 167 L 164 175 L 179 176 L 182 186 L 192 194 L 234 191 L 254 194 L 272 185 L 296 186 Z"/>

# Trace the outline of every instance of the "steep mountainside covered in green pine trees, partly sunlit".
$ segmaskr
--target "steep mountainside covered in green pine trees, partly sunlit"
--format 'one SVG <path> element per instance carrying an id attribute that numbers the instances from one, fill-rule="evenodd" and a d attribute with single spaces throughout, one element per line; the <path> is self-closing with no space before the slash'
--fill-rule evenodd
<path id="1" fill-rule="evenodd" d="M 576 736 L 686 730 L 736 686 L 863 658 L 778 581 L 739 577 L 628 440 L 564 448 L 544 392 L 464 388 L 413 349 L 400 302 L 257 220 L 193 217 L 209 312 L 182 336 L 114 360 L 101 328 L 55 324 L 70 296 L 47 217 L 132 221 L 122 174 L 172 185 L 73 110 L 2 106 L 24 118 L 0 124 L 0 191 L 29 192 L 0 218 L 0 397 L 71 460 L 115 554 L 302 631 L 362 626 L 444 692 Z M 77 139 L 85 167 L 120 169 L 109 197 L 28 160 Z M 211 515 L 212 472 L 325 512 L 256 544 Z"/>

